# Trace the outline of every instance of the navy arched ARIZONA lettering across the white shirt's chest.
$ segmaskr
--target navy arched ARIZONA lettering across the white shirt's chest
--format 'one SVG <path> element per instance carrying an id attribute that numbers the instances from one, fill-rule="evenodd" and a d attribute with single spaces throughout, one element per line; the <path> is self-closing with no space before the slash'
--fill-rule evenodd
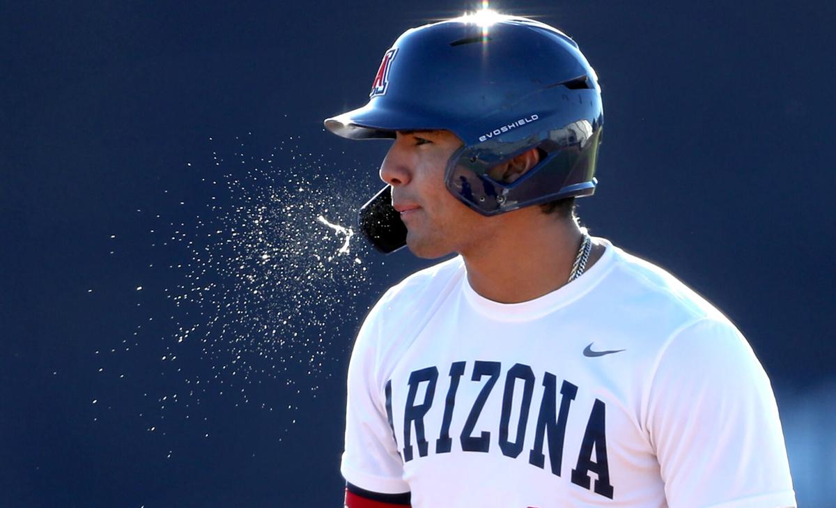
<path id="1" fill-rule="evenodd" d="M 553 475 L 562 476 L 564 472 L 561 470 L 561 463 L 566 451 L 566 424 L 570 418 L 573 401 L 578 394 L 578 387 L 565 379 L 558 381 L 557 376 L 548 372 L 543 373 L 543 378 L 538 380 L 533 369 L 523 363 L 515 363 L 502 376 L 501 363 L 477 360 L 472 363 L 471 375 L 466 376 L 467 363 L 451 363 L 449 371 L 441 374 L 450 379 L 446 394 L 437 393 L 440 373 L 435 366 L 413 371 L 409 375 L 407 385 L 400 387 L 406 394 L 400 434 L 403 442 L 399 443 L 399 452 L 404 462 L 426 457 L 430 453 L 450 453 L 456 441 L 459 450 L 473 453 L 487 453 L 492 444 L 498 444 L 502 455 L 512 459 L 522 455 L 524 460 L 528 460 L 528 464 L 540 469 L 548 468 Z M 543 397 L 538 401 L 537 409 L 532 411 L 534 387 L 538 382 L 543 386 Z M 456 394 L 464 383 L 480 384 L 481 388 L 478 389 L 477 396 L 469 408 L 457 408 Z M 502 393 L 499 421 L 490 430 L 477 429 L 482 409 L 494 390 Z M 392 434 L 395 441 L 398 441 L 392 414 L 391 380 L 385 386 L 385 396 L 386 413 Z M 441 426 L 429 429 L 424 420 L 436 401 L 444 404 Z M 461 434 L 458 436 L 450 434 L 454 411 L 456 414 L 466 414 Z M 577 412 L 576 410 L 575 413 Z M 517 414 L 514 425 L 512 414 Z M 523 454 L 529 418 L 536 418 L 536 424 L 533 426 L 534 439 L 531 449 Z M 574 415 L 573 418 L 578 416 Z M 586 421 L 581 443 L 572 446 L 572 450 L 578 450 L 578 459 L 575 467 L 568 471 L 568 479 L 574 485 L 613 499 L 614 488 L 609 482 L 605 434 L 606 404 L 595 399 Z M 516 428 L 513 434 L 510 430 L 512 427 Z M 492 437 L 492 432 L 495 431 L 498 431 L 497 435 Z M 427 440 L 428 434 L 435 438 L 432 442 Z M 544 450 L 548 450 L 548 464 Z M 596 475 L 595 479 L 590 477 L 590 472 Z"/>

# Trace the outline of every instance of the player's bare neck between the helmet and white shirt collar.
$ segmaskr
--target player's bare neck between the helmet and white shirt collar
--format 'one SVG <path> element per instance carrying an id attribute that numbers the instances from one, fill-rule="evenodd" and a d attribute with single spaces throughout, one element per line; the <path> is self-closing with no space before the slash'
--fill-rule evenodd
<path id="1" fill-rule="evenodd" d="M 518 303 L 565 285 L 583 240 L 578 223 L 536 209 L 502 218 L 507 223 L 494 230 L 497 234 L 461 251 L 473 290 L 494 302 Z M 596 247 L 587 267 L 603 251 Z"/>

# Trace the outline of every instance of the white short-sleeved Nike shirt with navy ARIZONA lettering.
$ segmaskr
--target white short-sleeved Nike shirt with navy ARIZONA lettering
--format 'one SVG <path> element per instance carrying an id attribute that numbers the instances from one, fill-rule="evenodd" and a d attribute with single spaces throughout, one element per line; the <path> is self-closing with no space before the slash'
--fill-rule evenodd
<path id="1" fill-rule="evenodd" d="M 461 257 L 386 292 L 349 366 L 342 473 L 414 508 L 795 506 L 772 388 L 732 323 L 608 241 L 502 304 Z"/>

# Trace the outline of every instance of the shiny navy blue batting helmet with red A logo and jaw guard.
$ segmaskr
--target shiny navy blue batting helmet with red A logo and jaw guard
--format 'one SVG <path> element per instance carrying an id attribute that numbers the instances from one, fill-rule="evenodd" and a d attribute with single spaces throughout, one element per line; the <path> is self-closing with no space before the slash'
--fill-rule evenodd
<path id="1" fill-rule="evenodd" d="M 463 145 L 447 163 L 447 190 L 493 216 L 591 195 L 603 121 L 598 76 L 571 38 L 527 18 L 465 16 L 403 33 L 384 54 L 368 104 L 325 127 L 354 140 L 450 130 Z M 522 177 L 488 175 L 532 148 L 541 159 Z M 385 252 L 406 236 L 390 190 L 360 211 L 360 229 Z"/>

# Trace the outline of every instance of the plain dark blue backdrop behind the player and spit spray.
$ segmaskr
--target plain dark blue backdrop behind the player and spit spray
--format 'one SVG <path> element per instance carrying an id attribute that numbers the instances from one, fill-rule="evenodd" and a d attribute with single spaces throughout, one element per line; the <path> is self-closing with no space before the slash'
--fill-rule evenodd
<path id="1" fill-rule="evenodd" d="M 598 71 L 580 216 L 747 335 L 816 506 L 836 495 L 833 5 L 494 4 Z M 317 216 L 349 226 L 386 144 L 321 121 L 405 28 L 474 7 L 4 3 L 0 505 L 339 505 L 354 333 L 426 262 L 339 255 Z"/>

